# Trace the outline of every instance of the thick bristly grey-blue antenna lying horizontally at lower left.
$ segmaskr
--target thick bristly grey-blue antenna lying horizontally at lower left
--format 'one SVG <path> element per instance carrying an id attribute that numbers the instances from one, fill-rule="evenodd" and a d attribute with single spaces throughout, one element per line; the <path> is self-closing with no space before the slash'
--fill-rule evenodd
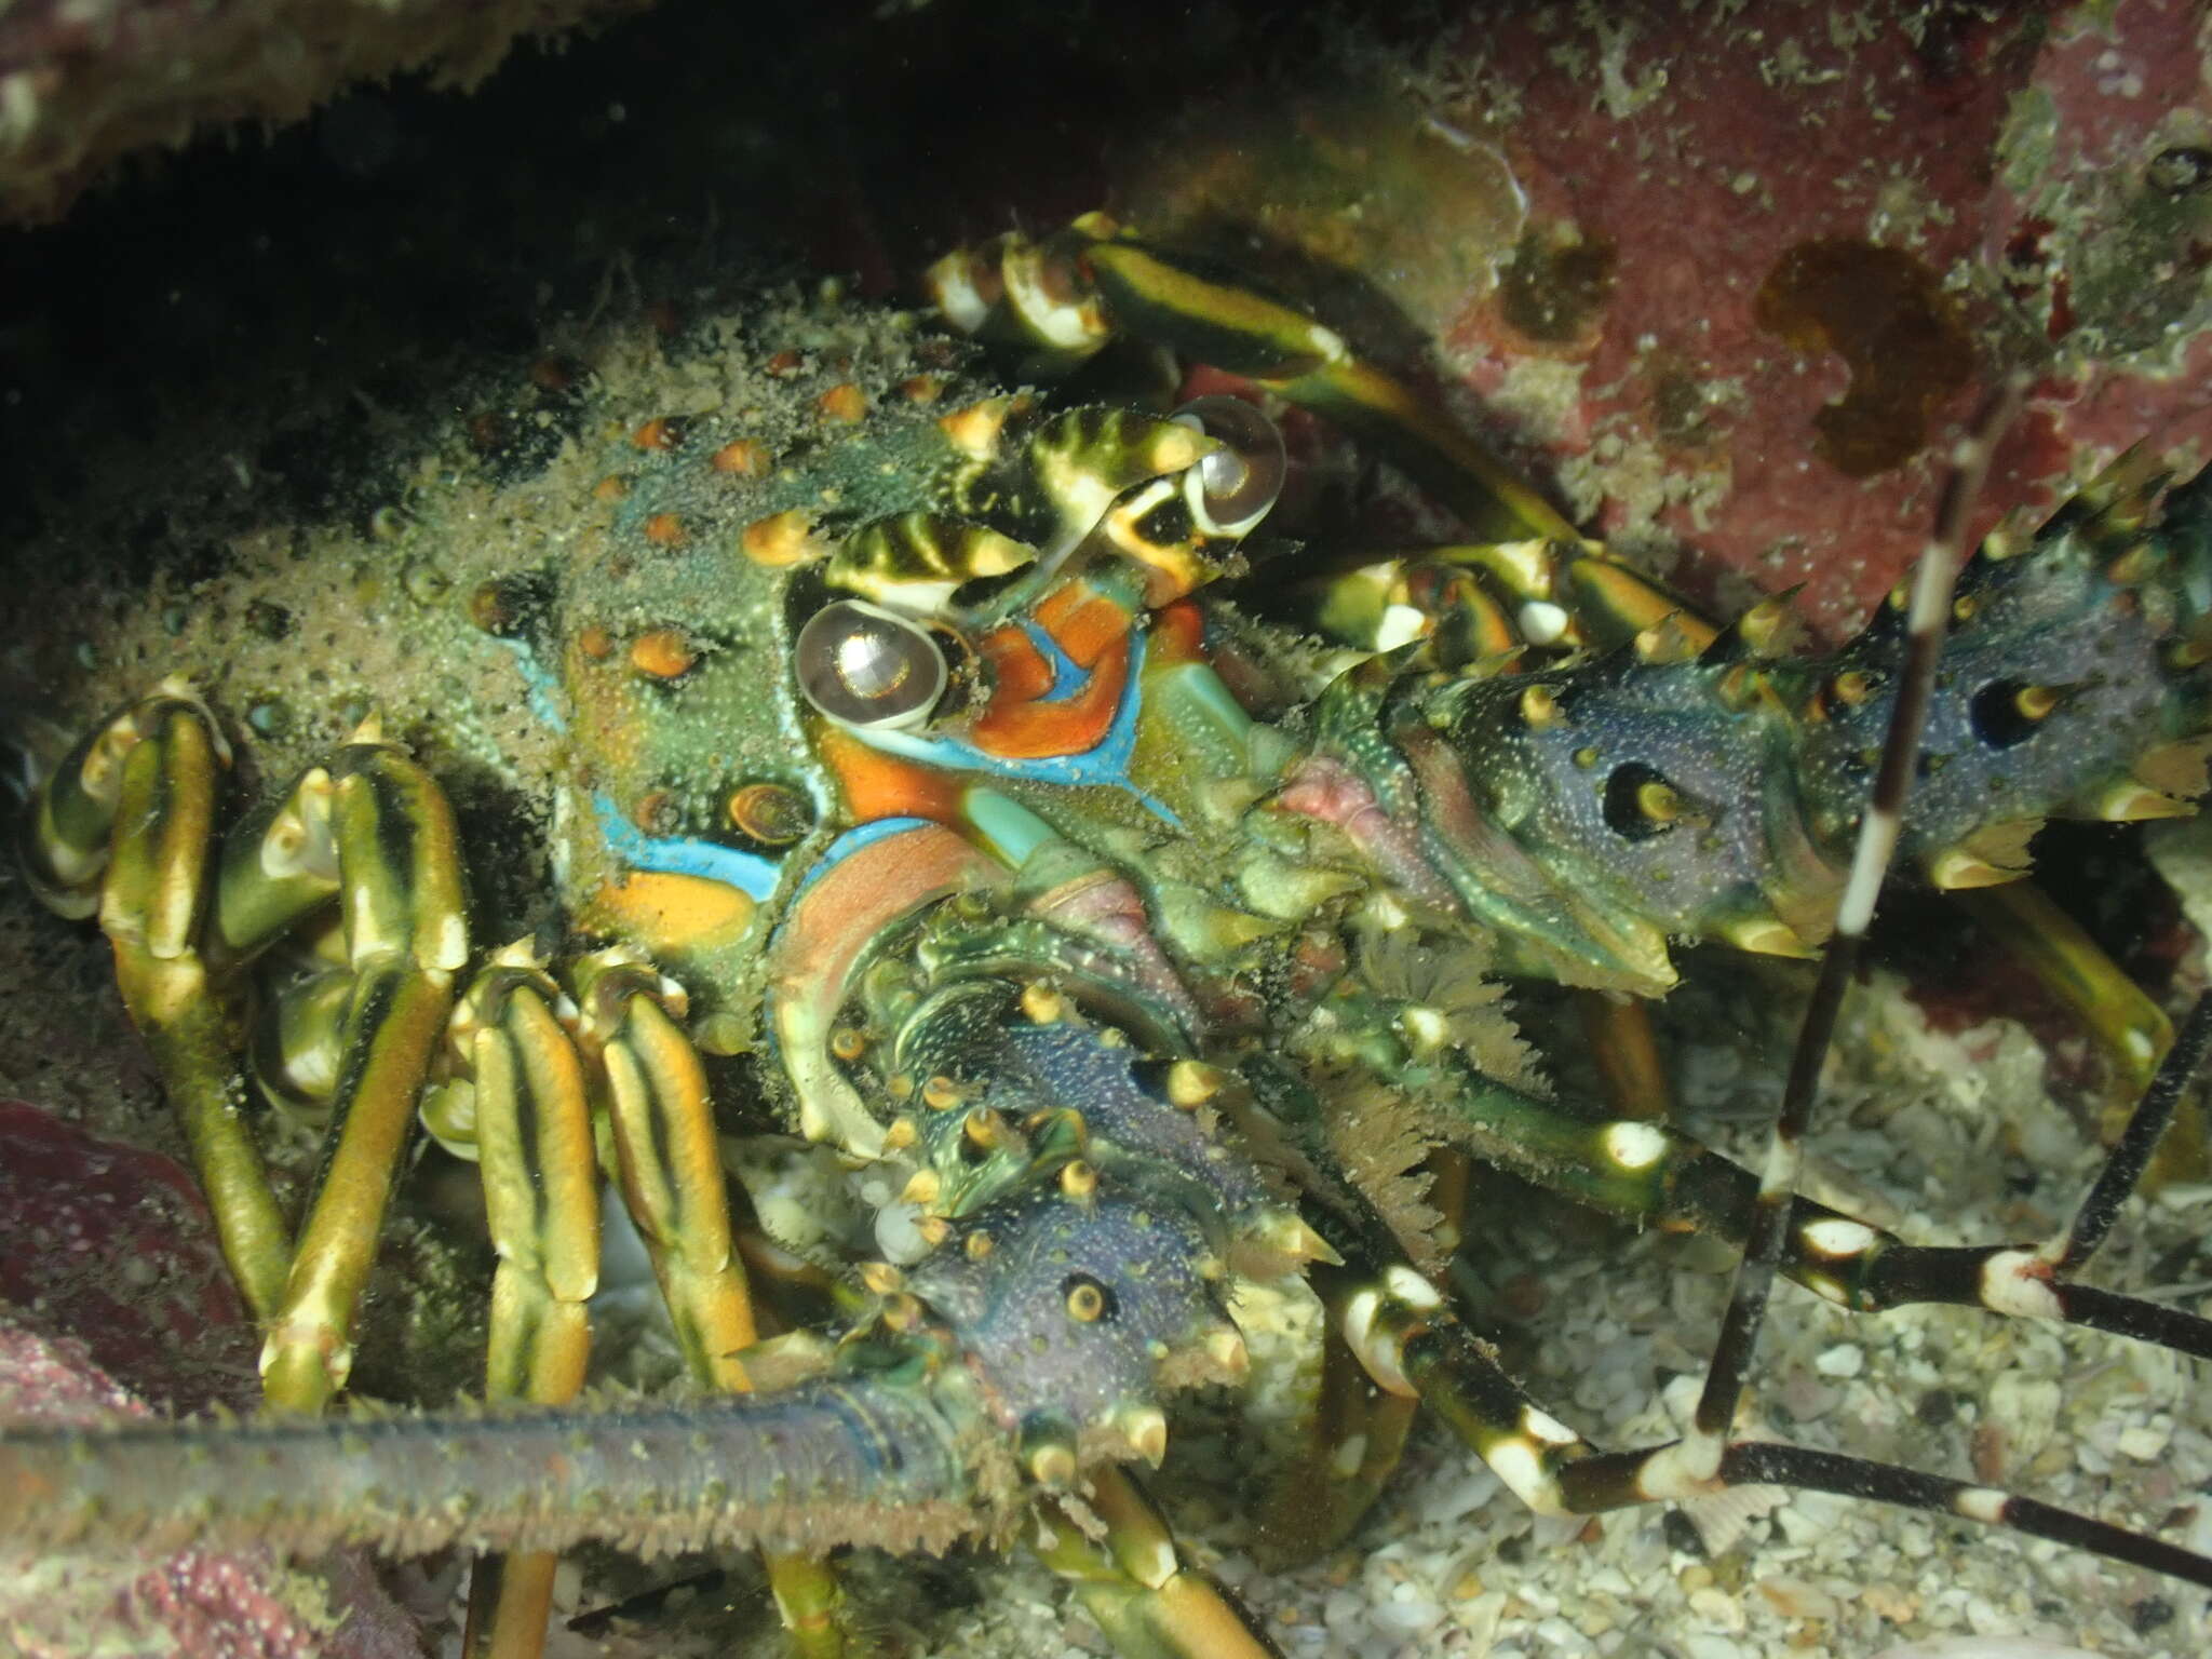
<path id="1" fill-rule="evenodd" d="M 1011 1455 L 945 1387 L 823 1378 L 783 1394 L 557 1411 L 11 1427 L 0 1540 L 153 1551 L 369 1544 L 639 1555 L 765 1542 L 942 1551 L 1011 1517 Z"/>

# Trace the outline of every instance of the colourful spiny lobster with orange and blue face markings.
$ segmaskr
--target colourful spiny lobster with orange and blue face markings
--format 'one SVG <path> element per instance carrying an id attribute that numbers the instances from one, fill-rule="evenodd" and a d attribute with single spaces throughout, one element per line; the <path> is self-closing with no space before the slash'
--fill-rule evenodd
<path id="1" fill-rule="evenodd" d="M 484 723 L 529 708 L 557 734 L 465 750 L 551 803 L 557 927 L 478 960 L 453 807 L 376 719 L 217 836 L 221 721 L 164 681 L 35 796 L 24 867 L 115 945 L 274 1413 L 9 1429 L 0 1540 L 507 1551 L 476 1573 L 471 1652 L 535 1646 L 577 1540 L 754 1544 L 801 1648 L 841 1652 L 825 1551 L 1029 1537 L 1124 1652 L 1261 1655 L 1133 1467 L 1161 1460 L 1179 1389 L 1243 1376 L 1248 1292 L 1303 1281 L 1369 1413 L 1431 1407 L 1540 1511 L 1778 1482 L 2212 1584 L 2157 1537 L 1732 1427 L 1776 1272 L 1854 1312 L 1960 1303 L 2212 1354 L 2205 1318 L 2075 1279 L 2203 1009 L 2048 1243 L 1918 1248 L 1794 1197 L 1893 847 L 1938 887 L 2002 883 L 2046 816 L 2201 792 L 2212 482 L 2124 460 L 1984 540 L 1953 593 L 1984 425 L 1911 597 L 1790 655 L 1778 604 L 1712 628 L 1334 332 L 1104 219 L 958 254 L 933 296 L 1024 376 L 1119 334 L 1234 372 L 1378 445 L 1469 542 L 1323 573 L 1316 639 L 1219 597 L 1316 568 L 1263 529 L 1285 462 L 1250 400 L 998 392 L 876 314 L 785 312 L 770 332 L 801 345 L 763 365 L 710 338 L 684 409 L 604 389 L 635 343 L 549 358 L 560 453 L 456 462 L 394 555 L 489 571 L 411 628 L 509 677 Z M 597 938 L 555 975 L 549 945 Z M 1657 995 L 1670 940 L 1823 938 L 1759 1175 L 1661 1115 L 1553 1097 L 1493 984 Z M 257 958 L 283 969 L 259 1084 L 332 1119 L 296 1237 L 241 1110 Z M 823 1290 L 794 1261 L 823 1245 L 732 1221 L 717 1057 L 878 1177 L 885 1259 L 827 1287 L 834 1340 L 763 1340 L 754 1301 Z M 495 1405 L 303 1420 L 345 1389 L 418 1102 L 482 1166 Z M 1743 1248 L 1681 1440 L 1597 1451 L 1515 1385 L 1440 1290 L 1453 1219 L 1409 1194 L 1409 1159 L 1347 1150 L 1378 1124 Z M 564 1409 L 602 1168 L 717 1398 Z M 748 1259 L 792 1283 L 748 1287 Z"/>

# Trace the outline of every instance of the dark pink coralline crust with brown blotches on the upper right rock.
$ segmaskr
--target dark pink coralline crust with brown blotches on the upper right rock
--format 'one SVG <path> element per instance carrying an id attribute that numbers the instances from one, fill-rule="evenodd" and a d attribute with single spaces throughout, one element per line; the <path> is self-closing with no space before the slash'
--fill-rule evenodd
<path id="1" fill-rule="evenodd" d="M 2064 467 L 2137 440 L 2212 438 L 2201 33 L 2183 0 L 1847 20 L 1778 4 L 1717 31 L 1652 4 L 1590 27 L 1484 13 L 1462 62 L 1515 106 L 1471 131 L 1528 199 L 1506 274 L 1568 250 L 1584 276 L 1601 254 L 1604 283 L 1555 281 L 1586 305 L 1542 330 L 1500 281 L 1444 323 L 1451 356 L 1509 403 L 1526 365 L 1571 376 L 1524 436 L 1584 469 L 1604 531 L 1805 584 L 1816 626 L 1847 630 L 1918 553 L 1942 427 L 1991 365 L 2037 374 L 1997 504 L 2048 504 Z M 1865 281 L 1785 292 L 1854 250 Z M 1887 336 L 1865 316 L 1885 292 Z M 1860 314 L 1823 314 L 1836 294 Z M 1867 409 L 1891 445 L 1838 445 Z"/>

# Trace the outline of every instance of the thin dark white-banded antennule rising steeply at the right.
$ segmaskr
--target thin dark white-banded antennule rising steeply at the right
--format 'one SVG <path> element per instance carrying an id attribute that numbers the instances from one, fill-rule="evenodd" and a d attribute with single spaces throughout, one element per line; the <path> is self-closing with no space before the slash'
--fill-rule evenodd
<path id="1" fill-rule="evenodd" d="M 1820 958 L 1820 978 L 1814 982 L 1805 1022 L 1798 1026 L 1796 1051 L 1790 1055 L 1790 1077 L 1783 1084 L 1783 1104 L 1774 1117 L 1774 1135 L 1759 1172 L 1759 1199 L 1752 1210 L 1750 1237 L 1743 1243 L 1743 1259 L 1736 1263 L 1728 1312 L 1721 1316 L 1721 1336 L 1712 1347 L 1705 1387 L 1697 1398 L 1697 1413 L 1681 1444 L 1683 1464 L 1705 1475 L 1721 1467 L 1728 1431 L 1736 1420 L 1736 1402 L 1750 1378 L 1752 1349 L 1759 1345 L 1759 1325 L 1765 1318 L 1767 1294 L 1774 1290 L 1774 1274 L 1781 1267 L 1790 1232 L 1790 1201 L 1805 1161 L 1805 1130 L 1820 1093 L 1820 1066 L 1836 1035 L 1836 1018 L 1843 1011 L 1851 975 L 1858 971 L 1867 925 L 1874 920 L 1874 902 L 1889 876 L 1889 863 L 1905 827 L 1905 796 L 1920 759 L 1920 730 L 1927 723 L 1936 670 L 1942 661 L 1951 591 L 1966 560 L 1966 520 L 1982 493 L 1982 480 L 1989 476 L 1991 451 L 2011 427 L 2024 389 L 2026 376 L 2006 376 L 1966 427 L 1966 436 L 1953 445 L 1951 476 L 1944 480 L 1942 502 L 1936 509 L 1936 529 L 1920 553 L 1920 568 L 1913 573 L 1905 622 L 1905 659 L 1898 666 L 1898 695 L 1889 712 L 1889 732 L 1882 739 L 1882 759 L 1874 774 L 1867 810 L 1858 821 L 1858 845 L 1851 849 L 1851 869 L 1836 905 L 1836 931 Z"/>

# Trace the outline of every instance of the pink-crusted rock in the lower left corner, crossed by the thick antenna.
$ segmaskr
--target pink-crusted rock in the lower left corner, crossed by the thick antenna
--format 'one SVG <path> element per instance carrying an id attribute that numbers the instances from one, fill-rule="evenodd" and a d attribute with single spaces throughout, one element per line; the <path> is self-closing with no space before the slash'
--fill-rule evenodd
<path id="1" fill-rule="evenodd" d="M 243 1407 L 252 1347 L 175 1161 L 0 1102 L 0 1420 L 153 1416 L 148 1398 Z M 422 1641 L 349 1553 L 303 1568 L 263 1553 L 0 1553 L 0 1650 L 420 1659 Z"/>

